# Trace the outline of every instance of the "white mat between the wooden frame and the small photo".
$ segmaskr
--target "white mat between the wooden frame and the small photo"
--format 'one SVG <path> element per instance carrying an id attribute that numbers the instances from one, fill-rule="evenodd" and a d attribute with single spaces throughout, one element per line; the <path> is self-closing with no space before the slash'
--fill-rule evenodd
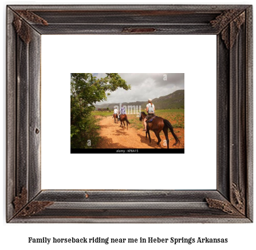
<path id="1" fill-rule="evenodd" d="M 42 189 L 216 189 L 216 35 L 42 35 L 41 47 Z M 70 73 L 105 71 L 185 73 L 185 155 L 70 154 Z"/>

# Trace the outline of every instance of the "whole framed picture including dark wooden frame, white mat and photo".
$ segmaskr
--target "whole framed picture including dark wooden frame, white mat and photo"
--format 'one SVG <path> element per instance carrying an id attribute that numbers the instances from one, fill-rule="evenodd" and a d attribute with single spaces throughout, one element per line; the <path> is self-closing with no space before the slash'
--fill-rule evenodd
<path id="1" fill-rule="evenodd" d="M 252 31 L 250 5 L 7 6 L 6 221 L 251 223 Z"/>

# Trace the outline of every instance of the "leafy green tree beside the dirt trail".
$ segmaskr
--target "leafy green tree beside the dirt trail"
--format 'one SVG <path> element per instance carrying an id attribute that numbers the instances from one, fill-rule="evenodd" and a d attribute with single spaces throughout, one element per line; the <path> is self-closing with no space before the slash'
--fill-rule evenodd
<path id="1" fill-rule="evenodd" d="M 109 92 L 117 88 L 131 89 L 117 73 L 106 73 L 97 79 L 91 73 L 72 73 L 70 81 L 70 137 L 72 148 L 86 148 L 92 140 L 92 147 L 99 139 L 99 127 L 91 115 L 94 104 L 107 100 Z M 107 94 L 106 94 L 107 93 Z M 91 146 L 90 146 L 91 147 Z"/>

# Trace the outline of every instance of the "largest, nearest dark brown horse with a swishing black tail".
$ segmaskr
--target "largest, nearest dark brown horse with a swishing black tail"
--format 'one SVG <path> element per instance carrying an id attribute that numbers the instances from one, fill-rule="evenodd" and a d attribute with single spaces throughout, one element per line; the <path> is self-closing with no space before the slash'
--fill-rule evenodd
<path id="1" fill-rule="evenodd" d="M 141 112 L 140 120 L 144 120 L 144 118 L 146 116 L 147 115 L 145 114 L 145 112 Z M 147 134 L 148 134 L 149 143 L 151 143 L 151 137 L 150 137 L 150 134 L 149 134 L 149 130 L 152 130 L 152 131 L 155 132 L 155 135 L 158 139 L 158 142 L 156 143 L 157 145 L 159 145 L 159 143 L 161 142 L 161 138 L 160 138 L 159 134 L 163 130 L 164 135 L 166 136 L 167 148 L 169 148 L 168 128 L 170 128 L 170 131 L 171 131 L 171 133 L 172 133 L 172 135 L 174 136 L 174 139 L 175 139 L 175 143 L 173 144 L 173 146 L 175 146 L 177 143 L 180 143 L 180 140 L 174 134 L 174 128 L 172 127 L 171 123 L 168 120 L 163 119 L 162 117 L 157 117 L 157 118 L 153 119 L 152 122 L 147 123 L 146 138 L 147 138 Z"/>

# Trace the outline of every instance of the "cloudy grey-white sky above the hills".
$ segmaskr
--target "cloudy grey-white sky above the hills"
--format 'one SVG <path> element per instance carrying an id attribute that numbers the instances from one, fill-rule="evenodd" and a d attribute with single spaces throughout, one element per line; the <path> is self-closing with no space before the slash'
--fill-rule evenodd
<path id="1" fill-rule="evenodd" d="M 119 73 L 119 75 L 127 84 L 131 84 L 131 90 L 119 88 L 111 92 L 107 101 L 96 104 L 146 101 L 149 98 L 171 94 L 176 90 L 184 90 L 183 73 Z M 167 80 L 164 80 L 164 75 L 167 76 Z M 93 76 L 101 78 L 106 74 L 93 73 Z"/>

